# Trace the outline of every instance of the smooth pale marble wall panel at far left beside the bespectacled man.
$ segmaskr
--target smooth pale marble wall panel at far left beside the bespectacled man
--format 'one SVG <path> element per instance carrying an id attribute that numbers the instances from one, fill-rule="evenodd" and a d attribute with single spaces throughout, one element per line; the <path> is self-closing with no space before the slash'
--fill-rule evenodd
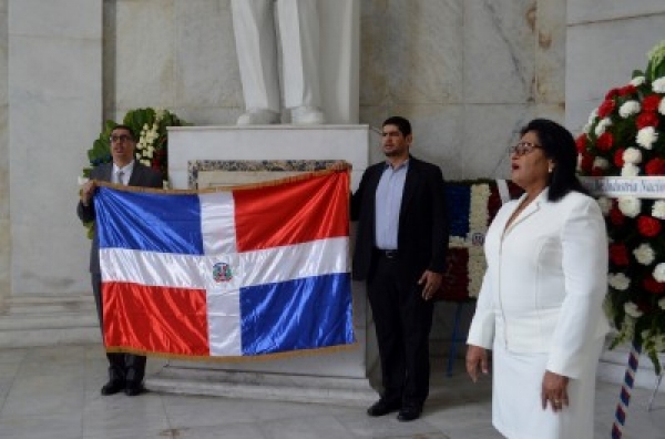
<path id="1" fill-rule="evenodd" d="M 102 1 L 6 4 L 11 295 L 85 292 L 76 176 L 102 121 Z"/>

